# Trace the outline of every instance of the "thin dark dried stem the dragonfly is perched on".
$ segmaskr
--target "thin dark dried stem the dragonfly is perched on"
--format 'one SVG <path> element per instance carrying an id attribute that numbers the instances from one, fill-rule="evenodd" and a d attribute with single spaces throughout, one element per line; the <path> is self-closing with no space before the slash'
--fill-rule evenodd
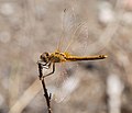
<path id="1" fill-rule="evenodd" d="M 40 80 L 42 81 L 42 86 L 43 86 L 43 90 L 44 90 L 44 97 L 46 99 L 46 104 L 47 104 L 47 109 L 48 109 L 48 113 L 52 113 L 52 109 L 51 109 L 51 97 L 52 97 L 52 93 L 48 93 L 47 89 L 46 89 L 46 86 L 45 86 L 45 81 L 44 81 L 44 78 L 42 79 L 43 77 L 43 72 L 42 72 L 42 65 L 38 64 L 38 72 L 40 72 Z"/>

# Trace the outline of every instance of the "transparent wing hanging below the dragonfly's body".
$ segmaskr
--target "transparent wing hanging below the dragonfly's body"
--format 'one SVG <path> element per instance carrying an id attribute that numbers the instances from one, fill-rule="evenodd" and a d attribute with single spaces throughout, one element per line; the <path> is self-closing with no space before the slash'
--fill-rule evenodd
<path id="1" fill-rule="evenodd" d="M 48 84 L 48 91 L 52 93 L 52 99 L 59 102 L 66 102 L 70 98 L 70 94 L 76 90 L 79 84 L 79 78 L 77 78 L 75 72 L 77 71 L 77 65 L 69 64 L 58 64 L 56 66 L 56 72 L 54 80 Z"/>

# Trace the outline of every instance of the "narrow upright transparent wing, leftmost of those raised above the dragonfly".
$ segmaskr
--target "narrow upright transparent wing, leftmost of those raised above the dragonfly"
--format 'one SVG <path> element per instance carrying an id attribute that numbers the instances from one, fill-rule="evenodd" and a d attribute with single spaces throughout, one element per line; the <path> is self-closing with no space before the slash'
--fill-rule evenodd
<path id="1" fill-rule="evenodd" d="M 62 35 L 57 49 L 63 52 L 64 48 L 66 48 L 66 41 L 68 41 L 67 37 L 72 36 L 75 27 L 76 15 L 74 13 L 74 9 L 65 9 L 62 14 Z"/>

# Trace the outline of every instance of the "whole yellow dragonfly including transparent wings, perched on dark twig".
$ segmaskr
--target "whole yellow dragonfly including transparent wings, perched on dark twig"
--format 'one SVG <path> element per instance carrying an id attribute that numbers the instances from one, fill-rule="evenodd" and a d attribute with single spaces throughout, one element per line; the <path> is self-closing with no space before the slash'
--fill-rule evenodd
<path id="1" fill-rule="evenodd" d="M 52 81 L 53 79 L 55 82 L 54 86 L 50 84 L 51 88 L 48 88 L 48 90 L 51 90 L 50 92 L 55 95 L 53 99 L 56 102 L 64 101 L 64 99 L 70 94 L 72 90 L 75 89 L 77 83 L 79 82 L 79 80 L 75 79 L 75 77 L 70 78 L 72 76 L 67 75 L 67 70 L 65 71 L 65 72 L 62 71 L 62 67 L 57 67 L 57 64 L 68 63 L 69 66 L 67 69 L 70 70 L 70 67 L 73 69 L 70 63 L 77 63 L 82 60 L 99 60 L 107 58 L 107 55 L 87 55 L 88 49 L 92 49 L 88 48 L 87 45 L 89 41 L 89 44 L 94 44 L 95 39 L 92 41 L 88 37 L 87 22 L 80 22 L 76 24 L 76 15 L 73 12 L 74 11 L 70 9 L 64 10 L 63 12 L 63 36 L 61 36 L 61 39 L 58 41 L 56 47 L 57 49 L 53 53 L 42 53 L 40 56 L 40 60 L 37 61 L 37 64 L 41 64 L 41 67 L 44 69 L 44 75 L 40 77 L 41 80 L 43 80 L 45 77 L 52 76 L 54 72 L 57 72 L 57 69 L 61 69 L 62 74 L 58 72 L 58 75 L 51 77 L 50 79 L 50 81 Z M 75 71 L 76 69 L 74 68 L 74 72 Z M 55 80 L 54 78 L 57 80 Z M 70 89 L 68 89 L 68 84 L 70 86 Z"/>

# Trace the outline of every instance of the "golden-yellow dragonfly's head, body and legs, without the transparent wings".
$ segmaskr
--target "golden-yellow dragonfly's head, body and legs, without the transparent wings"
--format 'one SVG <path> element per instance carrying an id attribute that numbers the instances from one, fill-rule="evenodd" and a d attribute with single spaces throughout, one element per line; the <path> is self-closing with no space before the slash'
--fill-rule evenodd
<path id="1" fill-rule="evenodd" d="M 43 76 L 43 78 L 53 75 L 55 72 L 55 64 L 56 63 L 65 63 L 65 61 L 78 61 L 78 60 L 97 60 L 97 59 L 105 59 L 107 58 L 107 55 L 95 55 L 95 56 L 74 56 L 69 53 L 61 53 L 61 52 L 54 52 L 54 53 L 43 53 L 40 56 L 42 67 L 45 69 L 51 68 L 53 66 L 52 71 L 50 74 L 46 74 Z"/>

